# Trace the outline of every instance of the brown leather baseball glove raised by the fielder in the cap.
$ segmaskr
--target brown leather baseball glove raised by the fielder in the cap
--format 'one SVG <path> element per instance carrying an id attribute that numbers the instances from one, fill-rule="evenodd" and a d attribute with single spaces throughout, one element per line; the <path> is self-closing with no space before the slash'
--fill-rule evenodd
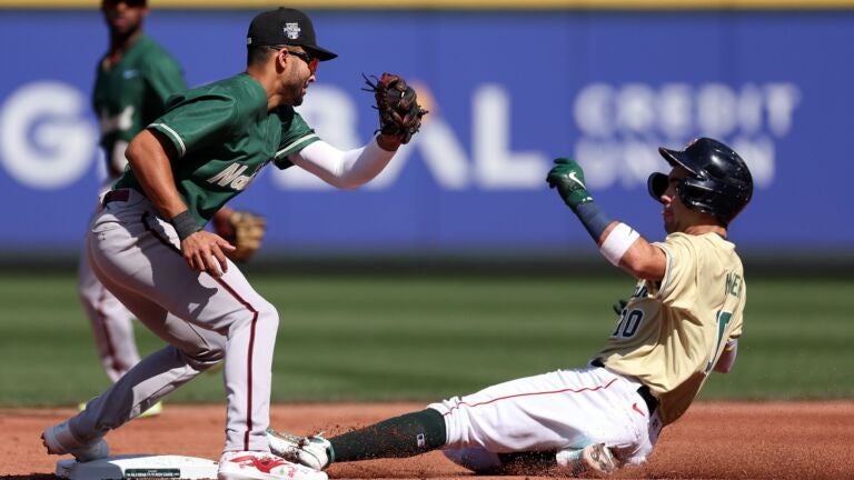
<path id="1" fill-rule="evenodd" d="M 397 136 L 401 143 L 408 143 L 421 127 L 421 117 L 427 114 L 427 110 L 418 104 L 415 89 L 394 73 L 383 73 L 380 78 L 371 76 L 374 81 L 370 81 L 365 73 L 361 76 L 365 78 L 365 83 L 370 87 L 363 90 L 374 92 L 374 98 L 377 100 L 374 107 L 379 112 L 377 131 Z"/>

